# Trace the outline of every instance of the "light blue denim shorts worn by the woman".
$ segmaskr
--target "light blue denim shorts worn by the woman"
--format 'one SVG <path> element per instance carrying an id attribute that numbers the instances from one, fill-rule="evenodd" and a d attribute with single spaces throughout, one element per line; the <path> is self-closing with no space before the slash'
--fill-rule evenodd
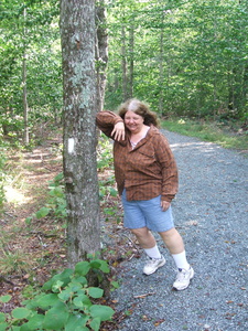
<path id="1" fill-rule="evenodd" d="M 127 201 L 126 190 L 121 195 L 125 211 L 123 225 L 127 228 L 147 226 L 154 232 L 164 232 L 174 227 L 171 206 L 163 212 L 160 205 L 161 195 L 151 200 Z"/>

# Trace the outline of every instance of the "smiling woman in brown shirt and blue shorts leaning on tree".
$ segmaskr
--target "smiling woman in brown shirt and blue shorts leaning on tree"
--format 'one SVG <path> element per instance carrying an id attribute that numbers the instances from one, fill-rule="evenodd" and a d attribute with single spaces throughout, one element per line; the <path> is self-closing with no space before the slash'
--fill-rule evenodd
<path id="1" fill-rule="evenodd" d="M 177 192 L 177 169 L 157 116 L 138 99 L 119 108 L 119 115 L 100 111 L 97 126 L 115 140 L 114 163 L 125 218 L 148 255 L 143 274 L 151 275 L 165 264 L 151 231 L 158 232 L 177 267 L 173 288 L 187 288 L 194 276 L 181 235 L 174 227 L 171 201 Z"/>

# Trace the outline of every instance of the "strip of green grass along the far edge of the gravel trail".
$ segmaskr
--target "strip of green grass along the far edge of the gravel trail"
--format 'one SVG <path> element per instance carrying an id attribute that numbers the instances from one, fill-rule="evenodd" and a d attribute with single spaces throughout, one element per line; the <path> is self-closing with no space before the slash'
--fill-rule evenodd
<path id="1" fill-rule="evenodd" d="M 234 128 L 231 124 L 197 121 L 192 119 L 163 120 L 162 128 L 184 136 L 196 137 L 204 141 L 215 142 L 224 148 L 247 150 L 248 131 Z"/>

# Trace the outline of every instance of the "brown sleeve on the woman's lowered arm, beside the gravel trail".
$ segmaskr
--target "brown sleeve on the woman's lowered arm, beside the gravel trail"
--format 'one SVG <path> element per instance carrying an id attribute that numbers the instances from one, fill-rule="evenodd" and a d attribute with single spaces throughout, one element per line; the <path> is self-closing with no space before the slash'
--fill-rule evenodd
<path id="1" fill-rule="evenodd" d="M 161 134 L 157 140 L 155 154 L 162 173 L 162 200 L 171 202 L 179 190 L 179 173 L 174 156 L 166 138 Z"/>

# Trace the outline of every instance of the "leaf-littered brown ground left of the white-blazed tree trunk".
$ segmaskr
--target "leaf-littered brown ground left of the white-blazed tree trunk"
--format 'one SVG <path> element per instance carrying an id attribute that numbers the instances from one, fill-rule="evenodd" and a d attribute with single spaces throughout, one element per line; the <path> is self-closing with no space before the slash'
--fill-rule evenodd
<path id="1" fill-rule="evenodd" d="M 0 269 L 1 275 L 8 276 L 0 279 L 0 296 L 10 293 L 12 299 L 3 311 L 20 305 L 24 287 L 42 285 L 51 270 L 64 265 L 62 224 L 51 217 L 26 221 L 44 206 L 48 182 L 62 171 L 57 143 L 47 141 L 45 147 L 17 153 L 9 161 L 11 182 L 7 186 L 6 212 L 0 217 Z"/>

